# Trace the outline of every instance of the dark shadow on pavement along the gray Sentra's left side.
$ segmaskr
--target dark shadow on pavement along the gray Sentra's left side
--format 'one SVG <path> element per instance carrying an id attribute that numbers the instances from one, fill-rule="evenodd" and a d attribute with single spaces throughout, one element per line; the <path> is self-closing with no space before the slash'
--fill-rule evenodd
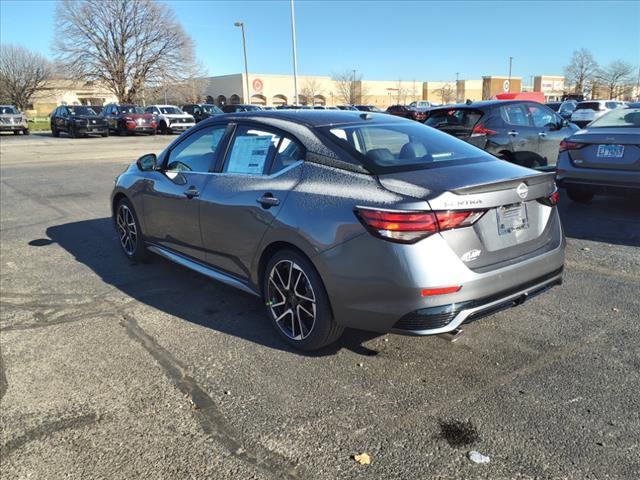
<path id="1" fill-rule="evenodd" d="M 270 348 L 305 356 L 333 355 L 342 348 L 377 354 L 363 345 L 378 333 L 348 329 L 334 345 L 301 352 L 280 339 L 262 301 L 156 255 L 132 264 L 120 250 L 111 218 L 84 220 L 47 228 L 48 239 L 33 239 L 33 247 L 57 243 L 105 283 L 144 305 L 198 325 L 241 337 Z"/>

